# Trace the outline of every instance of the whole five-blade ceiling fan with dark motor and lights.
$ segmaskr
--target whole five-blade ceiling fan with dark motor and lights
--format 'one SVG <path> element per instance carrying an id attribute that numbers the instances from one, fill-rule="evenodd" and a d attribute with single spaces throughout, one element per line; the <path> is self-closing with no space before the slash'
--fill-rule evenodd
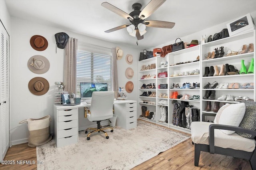
<path id="1" fill-rule="evenodd" d="M 103 2 L 101 5 L 108 10 L 126 18 L 131 24 L 124 24 L 116 28 L 105 31 L 106 33 L 114 32 L 122 28 L 126 28 L 131 36 L 136 36 L 137 40 L 142 40 L 143 35 L 146 33 L 146 26 L 156 27 L 156 28 L 173 28 L 174 22 L 148 20 L 145 21 L 155 10 L 157 10 L 166 0 L 151 0 L 143 9 L 140 10 L 142 5 L 140 3 L 135 3 L 132 5 L 132 11 L 130 14 L 116 8 L 115 6 L 109 4 L 108 2 Z"/>

